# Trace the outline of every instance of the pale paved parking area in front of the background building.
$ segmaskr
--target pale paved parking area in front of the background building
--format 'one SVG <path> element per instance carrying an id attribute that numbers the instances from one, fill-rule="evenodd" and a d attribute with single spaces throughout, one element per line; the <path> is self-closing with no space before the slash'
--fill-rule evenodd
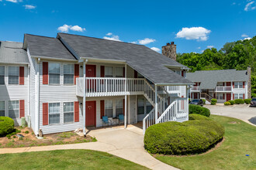
<path id="1" fill-rule="evenodd" d="M 209 108 L 211 114 L 234 117 L 256 126 L 256 107 L 249 107 L 247 104 L 234 104 L 224 106 L 224 104 L 204 105 Z"/>

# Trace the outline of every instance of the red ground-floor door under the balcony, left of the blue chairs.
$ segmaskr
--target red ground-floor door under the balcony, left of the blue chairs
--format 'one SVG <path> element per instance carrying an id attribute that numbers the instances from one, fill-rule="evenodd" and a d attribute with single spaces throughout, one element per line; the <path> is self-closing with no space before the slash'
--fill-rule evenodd
<path id="1" fill-rule="evenodd" d="M 92 127 L 96 124 L 96 101 L 86 101 L 85 126 Z"/>

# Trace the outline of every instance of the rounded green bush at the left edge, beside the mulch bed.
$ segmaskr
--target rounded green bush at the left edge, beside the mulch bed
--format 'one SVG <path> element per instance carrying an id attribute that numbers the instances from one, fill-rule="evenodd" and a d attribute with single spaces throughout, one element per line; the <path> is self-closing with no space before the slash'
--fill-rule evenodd
<path id="1" fill-rule="evenodd" d="M 10 134 L 14 130 L 14 121 L 10 117 L 0 117 L 0 136 Z"/>

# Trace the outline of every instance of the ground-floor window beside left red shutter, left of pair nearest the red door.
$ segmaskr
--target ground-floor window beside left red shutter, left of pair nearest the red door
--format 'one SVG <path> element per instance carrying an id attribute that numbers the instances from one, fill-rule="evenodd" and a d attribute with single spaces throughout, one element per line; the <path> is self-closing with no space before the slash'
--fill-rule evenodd
<path id="1" fill-rule="evenodd" d="M 49 104 L 49 124 L 60 123 L 60 103 Z"/>

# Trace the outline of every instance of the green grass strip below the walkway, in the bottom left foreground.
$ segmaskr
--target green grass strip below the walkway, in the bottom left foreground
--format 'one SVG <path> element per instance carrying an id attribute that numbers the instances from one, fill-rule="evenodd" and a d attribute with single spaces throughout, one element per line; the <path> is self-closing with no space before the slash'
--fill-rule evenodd
<path id="1" fill-rule="evenodd" d="M 36 151 L 0 155 L 0 169 L 147 169 L 106 152 Z"/>

